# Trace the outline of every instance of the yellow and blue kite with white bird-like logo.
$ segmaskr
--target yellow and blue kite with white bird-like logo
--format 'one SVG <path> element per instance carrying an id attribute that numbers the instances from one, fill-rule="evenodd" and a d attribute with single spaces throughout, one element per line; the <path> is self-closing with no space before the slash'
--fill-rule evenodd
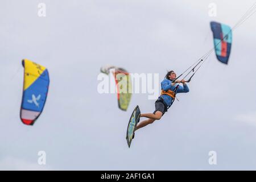
<path id="1" fill-rule="evenodd" d="M 22 60 L 24 67 L 23 97 L 20 119 L 33 125 L 43 111 L 49 88 L 49 73 L 42 65 Z"/>

